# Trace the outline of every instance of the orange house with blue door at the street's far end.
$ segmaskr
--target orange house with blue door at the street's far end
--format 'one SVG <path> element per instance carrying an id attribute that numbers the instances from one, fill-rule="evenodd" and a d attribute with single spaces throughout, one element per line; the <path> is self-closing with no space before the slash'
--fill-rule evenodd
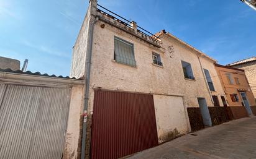
<path id="1" fill-rule="evenodd" d="M 245 114 L 244 116 L 247 116 L 247 113 L 252 115 L 253 113 L 250 106 L 255 106 L 256 103 L 248 80 L 245 76 L 245 71 L 243 69 L 222 66 L 220 64 L 215 64 L 215 67 L 224 92 L 226 93 L 227 105 L 230 107 L 241 106 L 240 112 L 237 112 L 241 114 L 237 114 L 237 116 L 243 117 L 243 114 Z M 244 108 L 246 108 L 247 113 Z"/>

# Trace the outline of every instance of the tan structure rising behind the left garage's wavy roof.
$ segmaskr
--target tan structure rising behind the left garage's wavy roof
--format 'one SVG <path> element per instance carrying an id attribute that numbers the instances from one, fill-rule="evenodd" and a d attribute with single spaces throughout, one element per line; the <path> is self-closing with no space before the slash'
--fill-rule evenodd
<path id="1" fill-rule="evenodd" d="M 17 59 L 10 59 L 0 56 L 0 69 L 19 70 L 20 63 L 21 62 Z"/>

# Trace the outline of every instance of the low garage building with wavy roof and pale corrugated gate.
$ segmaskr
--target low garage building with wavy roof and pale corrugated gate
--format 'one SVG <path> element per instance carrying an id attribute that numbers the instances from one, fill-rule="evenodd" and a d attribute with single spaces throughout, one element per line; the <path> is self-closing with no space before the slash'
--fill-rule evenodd
<path id="1" fill-rule="evenodd" d="M 78 158 L 83 84 L 0 69 L 0 158 Z"/>

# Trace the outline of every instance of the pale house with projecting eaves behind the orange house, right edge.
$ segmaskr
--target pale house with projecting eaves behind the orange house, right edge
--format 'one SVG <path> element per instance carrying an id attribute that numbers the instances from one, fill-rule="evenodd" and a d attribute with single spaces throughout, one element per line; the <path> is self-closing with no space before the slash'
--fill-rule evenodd
<path id="1" fill-rule="evenodd" d="M 256 100 L 256 57 L 233 62 L 231 64 L 227 64 L 227 66 L 244 69 L 250 88 L 252 89 Z"/>

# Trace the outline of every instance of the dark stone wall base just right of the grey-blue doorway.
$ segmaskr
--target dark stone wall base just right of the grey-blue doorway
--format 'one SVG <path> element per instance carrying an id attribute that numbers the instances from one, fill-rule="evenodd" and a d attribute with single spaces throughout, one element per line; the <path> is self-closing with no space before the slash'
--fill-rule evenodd
<path id="1" fill-rule="evenodd" d="M 208 109 L 213 126 L 229 121 L 226 110 L 223 106 L 209 106 Z"/>

